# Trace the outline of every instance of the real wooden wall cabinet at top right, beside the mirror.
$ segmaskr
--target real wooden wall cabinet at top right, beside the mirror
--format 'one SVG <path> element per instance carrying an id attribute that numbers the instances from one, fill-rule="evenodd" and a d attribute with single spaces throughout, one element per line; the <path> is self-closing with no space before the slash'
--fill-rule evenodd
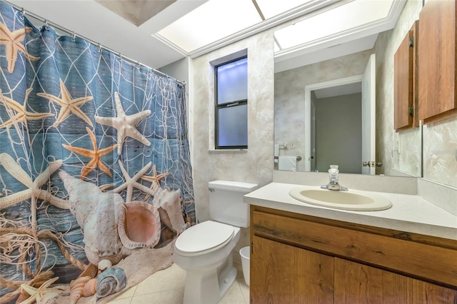
<path id="1" fill-rule="evenodd" d="M 419 119 L 426 124 L 457 116 L 456 1 L 426 1 L 418 34 Z"/>

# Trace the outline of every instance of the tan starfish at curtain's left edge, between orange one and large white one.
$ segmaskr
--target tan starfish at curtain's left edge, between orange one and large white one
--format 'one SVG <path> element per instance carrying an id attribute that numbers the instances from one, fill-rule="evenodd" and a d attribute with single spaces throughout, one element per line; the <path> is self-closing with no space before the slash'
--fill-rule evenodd
<path id="1" fill-rule="evenodd" d="M 0 125 L 0 128 L 6 128 L 14 123 L 24 123 L 24 126 L 27 128 L 27 121 L 33 121 L 41 118 L 46 118 L 47 116 L 52 116 L 52 113 L 31 113 L 27 111 L 27 99 L 29 99 L 29 94 L 31 88 L 26 91 L 26 98 L 24 100 L 24 105 L 19 104 L 11 98 L 8 98 L 1 93 L 0 90 L 0 102 L 3 103 L 6 107 L 11 108 L 16 111 L 16 115 L 12 116 L 8 121 L 5 121 Z"/>

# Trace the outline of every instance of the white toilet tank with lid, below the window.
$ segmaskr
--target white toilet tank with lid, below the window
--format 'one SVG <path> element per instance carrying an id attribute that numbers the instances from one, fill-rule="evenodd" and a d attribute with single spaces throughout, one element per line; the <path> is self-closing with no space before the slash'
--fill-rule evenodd
<path id="1" fill-rule="evenodd" d="M 214 221 L 236 227 L 249 227 L 249 206 L 243 196 L 256 190 L 255 183 L 210 181 L 209 215 Z"/>

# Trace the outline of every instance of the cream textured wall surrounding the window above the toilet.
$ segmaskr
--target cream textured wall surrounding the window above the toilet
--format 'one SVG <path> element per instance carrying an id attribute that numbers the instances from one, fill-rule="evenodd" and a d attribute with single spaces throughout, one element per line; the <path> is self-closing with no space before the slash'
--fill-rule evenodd
<path id="1" fill-rule="evenodd" d="M 210 62 L 248 50 L 248 149 L 214 151 L 214 69 Z M 209 219 L 208 182 L 265 186 L 273 171 L 273 34 L 269 31 L 194 59 L 194 193 L 199 221 Z M 248 245 L 243 229 L 239 246 Z"/>

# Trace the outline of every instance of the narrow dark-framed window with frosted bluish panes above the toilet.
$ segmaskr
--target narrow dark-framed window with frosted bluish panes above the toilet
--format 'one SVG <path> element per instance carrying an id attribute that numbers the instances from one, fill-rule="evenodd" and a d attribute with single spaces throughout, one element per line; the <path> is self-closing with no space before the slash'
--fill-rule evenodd
<path id="1" fill-rule="evenodd" d="M 248 148 L 248 59 L 215 66 L 216 149 Z"/>

